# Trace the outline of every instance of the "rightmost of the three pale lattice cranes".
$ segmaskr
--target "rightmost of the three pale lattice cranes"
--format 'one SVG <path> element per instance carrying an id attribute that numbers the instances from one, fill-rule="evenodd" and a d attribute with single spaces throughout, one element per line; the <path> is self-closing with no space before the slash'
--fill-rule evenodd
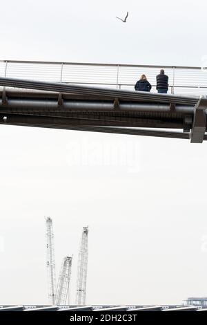
<path id="1" fill-rule="evenodd" d="M 86 304 L 86 279 L 88 266 L 88 227 L 83 227 L 81 244 L 79 248 L 79 260 L 77 270 L 77 296 L 76 304 Z"/>

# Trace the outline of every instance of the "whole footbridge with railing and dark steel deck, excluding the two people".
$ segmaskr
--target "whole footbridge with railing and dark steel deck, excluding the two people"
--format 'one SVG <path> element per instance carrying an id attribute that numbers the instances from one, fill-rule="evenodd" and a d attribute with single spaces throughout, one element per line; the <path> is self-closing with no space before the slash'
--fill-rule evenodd
<path id="1" fill-rule="evenodd" d="M 142 73 L 150 93 L 134 91 Z M 0 61 L 0 86 L 0 124 L 207 140 L 205 67 Z"/>

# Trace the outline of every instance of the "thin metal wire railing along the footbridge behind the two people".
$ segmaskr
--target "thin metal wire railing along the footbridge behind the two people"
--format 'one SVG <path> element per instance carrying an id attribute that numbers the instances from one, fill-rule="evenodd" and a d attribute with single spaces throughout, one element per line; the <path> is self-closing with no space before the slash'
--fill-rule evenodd
<path id="1" fill-rule="evenodd" d="M 0 76 L 48 82 L 87 84 L 115 89 L 134 89 L 141 74 L 156 92 L 156 75 L 164 68 L 169 77 L 168 93 L 207 95 L 207 68 L 198 66 L 152 66 L 75 62 L 0 60 Z"/>

